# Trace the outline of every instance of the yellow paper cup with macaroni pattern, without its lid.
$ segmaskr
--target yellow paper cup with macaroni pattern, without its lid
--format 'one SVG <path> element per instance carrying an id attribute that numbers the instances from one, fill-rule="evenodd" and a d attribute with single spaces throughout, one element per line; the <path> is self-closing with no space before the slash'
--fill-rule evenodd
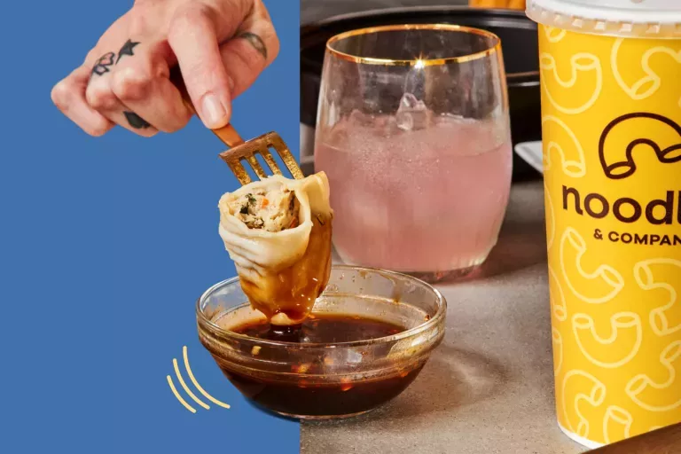
<path id="1" fill-rule="evenodd" d="M 598 447 L 681 422 L 681 39 L 539 47 L 558 420 Z"/>

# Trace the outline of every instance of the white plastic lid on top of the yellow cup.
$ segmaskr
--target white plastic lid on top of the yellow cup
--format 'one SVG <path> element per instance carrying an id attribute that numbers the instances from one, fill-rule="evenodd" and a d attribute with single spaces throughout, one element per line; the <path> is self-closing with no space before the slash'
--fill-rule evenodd
<path id="1" fill-rule="evenodd" d="M 581 33 L 681 38 L 681 0 L 528 0 L 527 14 Z"/>

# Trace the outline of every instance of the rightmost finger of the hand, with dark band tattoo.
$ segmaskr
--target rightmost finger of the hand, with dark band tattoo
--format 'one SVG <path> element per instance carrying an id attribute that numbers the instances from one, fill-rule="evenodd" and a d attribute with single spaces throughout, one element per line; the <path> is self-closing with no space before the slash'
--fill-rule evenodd
<path id="1" fill-rule="evenodd" d="M 264 4 L 256 0 L 237 35 L 220 52 L 234 86 L 232 97 L 247 90 L 279 53 L 279 40 Z"/>

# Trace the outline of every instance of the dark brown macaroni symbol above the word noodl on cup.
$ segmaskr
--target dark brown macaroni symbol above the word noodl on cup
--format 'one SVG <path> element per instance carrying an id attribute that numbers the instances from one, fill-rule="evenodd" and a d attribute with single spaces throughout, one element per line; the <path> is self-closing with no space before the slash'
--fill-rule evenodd
<path id="1" fill-rule="evenodd" d="M 625 121 L 640 119 L 659 121 L 661 124 L 669 126 L 670 129 L 674 129 L 674 131 L 676 131 L 678 135 L 678 142 L 674 145 L 669 145 L 667 148 L 662 149 L 661 146 L 658 145 L 658 143 L 655 142 L 653 139 L 648 137 L 639 137 L 635 140 L 632 140 L 630 144 L 627 145 L 626 150 L 624 150 L 624 157 L 626 158 L 625 160 L 619 160 L 613 162 L 612 164 L 608 163 L 606 157 L 607 137 L 615 128 L 617 128 Z M 631 125 L 629 126 L 633 128 L 633 126 Z M 634 160 L 634 151 L 636 150 L 638 145 L 647 145 L 650 148 L 652 148 L 655 153 L 655 156 L 657 157 L 657 160 L 659 160 L 661 164 L 676 164 L 678 162 L 681 162 L 681 126 L 678 125 L 676 121 L 673 121 L 670 118 L 667 118 L 660 114 L 653 114 L 650 112 L 634 112 L 631 114 L 624 114 L 615 118 L 613 121 L 610 121 L 606 129 L 603 129 L 603 132 L 601 133 L 599 139 L 600 167 L 603 168 L 603 172 L 606 174 L 608 178 L 610 178 L 611 180 L 622 180 L 636 173 L 636 171 L 638 170 L 638 166 L 636 160 Z M 608 154 L 612 155 L 613 153 Z"/>

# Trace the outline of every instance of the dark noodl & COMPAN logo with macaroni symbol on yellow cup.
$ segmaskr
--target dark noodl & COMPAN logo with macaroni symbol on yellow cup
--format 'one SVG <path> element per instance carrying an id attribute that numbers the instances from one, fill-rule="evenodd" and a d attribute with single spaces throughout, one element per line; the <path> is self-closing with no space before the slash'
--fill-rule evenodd
<path id="1" fill-rule="evenodd" d="M 614 131 L 623 131 L 624 134 L 641 136 L 648 133 L 651 136 L 662 130 L 663 137 L 671 143 L 662 143 L 650 137 L 635 138 L 630 141 L 625 149 L 607 147 L 608 137 Z M 669 134 L 670 132 L 670 134 Z M 601 168 L 608 179 L 624 180 L 642 171 L 638 168 L 638 162 L 642 160 L 642 154 L 646 150 L 639 147 L 647 147 L 651 150 L 661 164 L 673 164 L 678 167 L 681 182 L 681 126 L 659 114 L 634 113 L 626 114 L 611 121 L 603 130 L 599 140 L 599 159 Z M 637 155 L 634 155 L 636 150 Z M 638 162 L 637 162 L 638 161 Z M 654 175 L 654 174 L 653 174 Z M 652 176 L 651 181 L 654 181 Z M 563 209 L 574 211 L 577 215 L 590 216 L 593 219 L 614 217 L 623 224 L 633 224 L 643 221 L 652 226 L 675 225 L 681 228 L 681 184 L 677 188 L 669 188 L 660 197 L 653 200 L 640 200 L 635 194 L 630 197 L 622 197 L 617 200 L 608 200 L 599 192 L 583 193 L 575 187 L 563 185 L 562 202 Z M 596 230 L 594 237 L 612 242 L 635 244 L 642 246 L 681 246 L 681 232 L 677 235 L 655 234 L 653 232 L 621 232 L 610 231 L 604 234 Z"/>

